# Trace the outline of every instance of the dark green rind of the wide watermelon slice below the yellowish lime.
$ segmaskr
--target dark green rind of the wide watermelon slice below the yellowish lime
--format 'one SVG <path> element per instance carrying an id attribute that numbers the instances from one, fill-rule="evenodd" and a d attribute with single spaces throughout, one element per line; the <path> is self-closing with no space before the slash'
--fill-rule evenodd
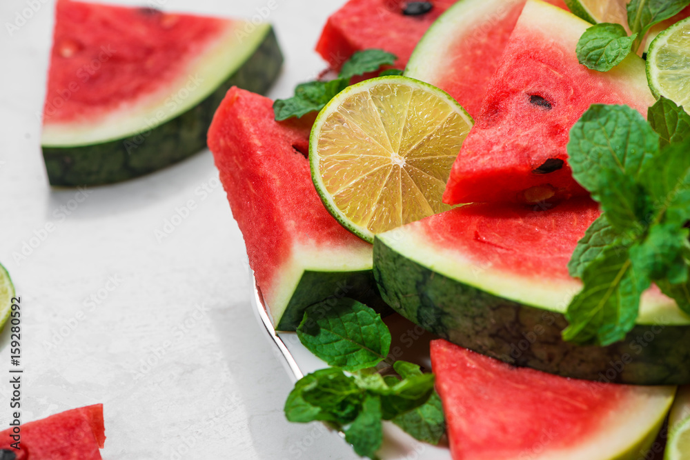
<path id="1" fill-rule="evenodd" d="M 492 294 L 469 281 L 488 272 L 451 276 L 429 268 L 419 262 L 426 258 L 420 248 L 400 249 L 401 241 L 409 241 L 399 232 L 376 237 L 374 277 L 384 301 L 426 330 L 515 366 L 564 377 L 640 385 L 690 383 L 690 321 L 638 324 L 624 341 L 611 346 L 578 346 L 562 339 L 568 321 L 558 308 L 507 299 L 501 297 L 500 286 Z M 532 288 L 524 287 L 526 296 L 534 294 Z"/>

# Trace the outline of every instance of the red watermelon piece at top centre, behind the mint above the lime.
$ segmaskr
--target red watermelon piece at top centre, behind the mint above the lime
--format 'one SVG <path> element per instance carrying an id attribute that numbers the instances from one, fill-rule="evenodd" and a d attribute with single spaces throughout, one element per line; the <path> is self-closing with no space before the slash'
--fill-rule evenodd
<path id="1" fill-rule="evenodd" d="M 426 1 L 431 9 L 420 8 L 421 14 L 411 15 L 406 14 L 411 12 L 408 0 L 350 0 L 328 18 L 316 50 L 333 70 L 369 48 L 395 54 L 394 66 L 402 69 L 426 29 L 455 1 Z"/>

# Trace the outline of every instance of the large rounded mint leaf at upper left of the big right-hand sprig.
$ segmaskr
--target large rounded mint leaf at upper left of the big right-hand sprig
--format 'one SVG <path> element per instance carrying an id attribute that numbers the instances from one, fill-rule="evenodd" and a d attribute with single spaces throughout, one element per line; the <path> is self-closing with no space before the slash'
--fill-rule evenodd
<path id="1" fill-rule="evenodd" d="M 628 106 L 594 104 L 571 128 L 568 142 L 573 177 L 599 199 L 602 170 L 618 170 L 637 179 L 659 149 L 659 135 Z"/>

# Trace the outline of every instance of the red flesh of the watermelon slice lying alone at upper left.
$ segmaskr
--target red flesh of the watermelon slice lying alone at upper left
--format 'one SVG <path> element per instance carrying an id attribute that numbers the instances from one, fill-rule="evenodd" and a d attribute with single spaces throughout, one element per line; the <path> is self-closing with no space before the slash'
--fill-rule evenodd
<path id="1" fill-rule="evenodd" d="M 147 98 L 166 99 L 171 94 L 157 94 L 161 88 L 181 74 L 189 78 L 197 55 L 238 24 L 244 22 L 59 0 L 46 120 L 93 121 Z"/>

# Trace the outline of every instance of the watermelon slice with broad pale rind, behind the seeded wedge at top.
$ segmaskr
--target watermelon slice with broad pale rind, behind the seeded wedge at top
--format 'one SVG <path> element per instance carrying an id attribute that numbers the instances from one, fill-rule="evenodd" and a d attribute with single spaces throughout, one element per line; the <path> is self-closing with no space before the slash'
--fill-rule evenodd
<path id="1" fill-rule="evenodd" d="M 406 77 L 441 88 L 476 118 L 524 2 L 458 1 L 417 43 Z M 563 0 L 549 3 L 566 9 Z"/>

